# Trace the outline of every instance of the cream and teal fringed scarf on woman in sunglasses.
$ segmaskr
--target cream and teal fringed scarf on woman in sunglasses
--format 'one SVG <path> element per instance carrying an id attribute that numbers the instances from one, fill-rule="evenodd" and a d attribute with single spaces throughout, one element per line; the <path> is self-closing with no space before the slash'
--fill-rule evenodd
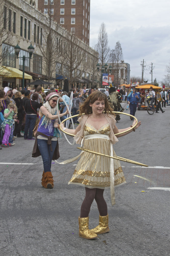
<path id="1" fill-rule="evenodd" d="M 49 101 L 44 103 L 43 106 L 48 110 L 48 112 L 51 115 L 56 115 L 57 114 L 57 106 L 55 106 L 55 108 L 51 108 L 51 106 L 49 104 Z M 47 125 L 51 124 L 51 122 L 52 122 L 51 119 L 49 119 L 47 116 L 43 115 L 43 119 L 42 119 L 41 125 L 44 125 L 44 127 L 47 128 Z M 53 136 L 57 137 L 57 138 L 61 138 L 60 131 L 57 128 L 55 128 L 55 127 L 54 127 L 54 134 L 53 134 Z"/>

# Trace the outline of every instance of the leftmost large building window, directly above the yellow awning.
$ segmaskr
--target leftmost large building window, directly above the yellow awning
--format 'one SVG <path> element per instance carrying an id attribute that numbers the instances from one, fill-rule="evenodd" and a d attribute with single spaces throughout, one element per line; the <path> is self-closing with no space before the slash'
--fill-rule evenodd
<path id="1" fill-rule="evenodd" d="M 7 44 L 2 44 L 2 65 L 15 68 L 14 47 Z"/>

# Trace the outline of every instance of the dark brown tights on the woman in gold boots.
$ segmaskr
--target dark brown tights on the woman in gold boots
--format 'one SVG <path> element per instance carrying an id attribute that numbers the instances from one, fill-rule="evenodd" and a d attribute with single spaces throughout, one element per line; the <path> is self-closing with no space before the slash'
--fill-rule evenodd
<path id="1" fill-rule="evenodd" d="M 80 217 L 81 218 L 88 217 L 90 212 L 90 207 L 94 199 L 97 203 L 97 208 L 99 210 L 100 216 L 106 216 L 108 212 L 107 212 L 107 204 L 103 197 L 104 189 L 85 187 L 85 190 L 86 190 L 86 195 L 81 206 Z"/>

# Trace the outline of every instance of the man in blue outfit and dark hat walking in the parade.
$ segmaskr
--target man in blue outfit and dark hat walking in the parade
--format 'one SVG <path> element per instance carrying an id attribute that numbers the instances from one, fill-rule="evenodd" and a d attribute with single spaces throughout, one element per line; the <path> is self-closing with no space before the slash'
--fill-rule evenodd
<path id="1" fill-rule="evenodd" d="M 130 115 L 134 116 L 140 97 L 139 94 L 136 92 L 135 86 L 131 86 L 131 90 L 132 91 L 127 96 L 127 102 L 129 104 Z M 130 116 L 130 120 L 134 120 L 134 118 Z"/>

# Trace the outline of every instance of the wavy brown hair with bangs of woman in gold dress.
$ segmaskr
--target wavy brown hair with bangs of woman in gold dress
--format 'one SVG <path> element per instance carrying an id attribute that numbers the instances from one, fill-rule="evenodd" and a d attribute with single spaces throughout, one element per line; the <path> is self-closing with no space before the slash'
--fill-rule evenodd
<path id="1" fill-rule="evenodd" d="M 104 100 L 104 112 L 107 114 L 110 112 L 110 114 L 112 114 L 113 108 L 111 107 L 106 94 L 98 91 L 91 93 L 84 101 L 84 103 L 80 106 L 80 115 L 82 115 L 83 113 L 85 115 L 91 114 L 92 108 L 90 107 L 90 103 L 93 104 L 96 100 Z"/>

